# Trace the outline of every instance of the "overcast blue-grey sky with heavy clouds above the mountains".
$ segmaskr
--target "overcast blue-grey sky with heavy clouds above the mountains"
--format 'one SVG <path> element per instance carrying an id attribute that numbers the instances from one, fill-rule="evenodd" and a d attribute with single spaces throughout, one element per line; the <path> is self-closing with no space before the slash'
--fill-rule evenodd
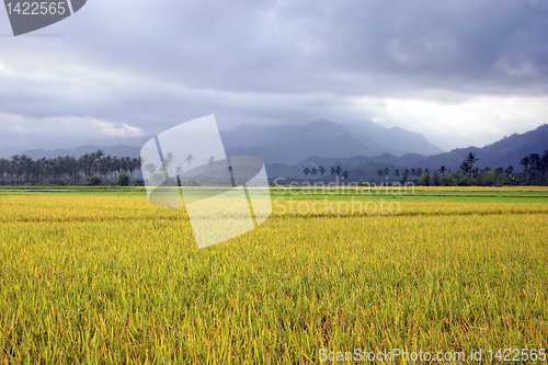
<path id="1" fill-rule="evenodd" d="M 546 0 L 88 0 L 11 34 L 0 10 L 2 155 L 212 113 L 221 129 L 373 119 L 444 150 L 548 122 Z"/>

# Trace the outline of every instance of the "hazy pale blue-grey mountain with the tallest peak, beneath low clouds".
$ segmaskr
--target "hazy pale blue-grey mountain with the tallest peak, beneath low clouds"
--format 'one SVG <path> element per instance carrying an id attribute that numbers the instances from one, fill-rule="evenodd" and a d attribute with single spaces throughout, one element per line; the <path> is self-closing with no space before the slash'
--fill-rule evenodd
<path id="1" fill-rule="evenodd" d="M 343 158 L 442 152 L 421 134 L 398 127 L 385 128 L 373 122 L 343 125 L 319 119 L 304 126 L 240 127 L 221 135 L 228 155 L 256 156 L 266 163 L 294 164 L 309 156 Z"/>

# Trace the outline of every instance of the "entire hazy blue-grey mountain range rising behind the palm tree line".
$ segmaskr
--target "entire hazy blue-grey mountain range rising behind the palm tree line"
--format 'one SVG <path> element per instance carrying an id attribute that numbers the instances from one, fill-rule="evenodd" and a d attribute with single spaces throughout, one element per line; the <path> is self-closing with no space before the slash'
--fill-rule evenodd
<path id="1" fill-rule="evenodd" d="M 520 161 L 532 152 L 548 149 L 548 125 L 524 134 L 513 134 L 491 145 L 478 148 L 457 148 L 443 152 L 418 133 L 399 127 L 385 128 L 373 122 L 359 125 L 338 124 L 319 119 L 306 125 L 241 126 L 221 132 L 229 156 L 255 156 L 266 163 L 270 176 L 302 176 L 305 167 L 350 167 L 379 162 L 393 167 L 437 169 L 444 164 L 456 170 L 468 152 L 479 158 L 479 168 L 513 166 L 521 171 Z M 105 155 L 138 157 L 140 147 L 94 145 L 71 149 L 33 149 L 21 152 L 32 159 L 58 156 L 80 157 L 98 149 Z M 353 168 L 353 169 L 354 169 Z M 369 166 L 367 169 L 372 168 Z M 357 169 L 357 168 L 356 168 Z"/>

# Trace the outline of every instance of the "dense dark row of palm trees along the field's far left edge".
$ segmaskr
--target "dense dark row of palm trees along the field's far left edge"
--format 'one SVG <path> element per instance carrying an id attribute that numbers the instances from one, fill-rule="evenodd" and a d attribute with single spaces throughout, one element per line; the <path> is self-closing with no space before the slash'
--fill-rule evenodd
<path id="1" fill-rule="evenodd" d="M 112 181 L 116 180 L 122 171 L 129 172 L 135 179 L 134 173 L 140 170 L 140 158 L 105 156 L 101 149 L 78 159 L 65 156 L 33 160 L 25 155 L 15 155 L 11 159 L 0 159 L 0 183 L 5 185 L 67 179 L 76 181 L 93 175 Z"/>

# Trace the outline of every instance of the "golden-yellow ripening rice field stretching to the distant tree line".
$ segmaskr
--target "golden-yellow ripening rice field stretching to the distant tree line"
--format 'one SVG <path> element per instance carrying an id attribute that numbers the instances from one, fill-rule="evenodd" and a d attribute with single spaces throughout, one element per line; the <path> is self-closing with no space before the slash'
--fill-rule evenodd
<path id="1" fill-rule="evenodd" d="M 548 347 L 548 189 L 272 199 L 259 228 L 198 249 L 185 209 L 142 189 L 1 190 L 2 363 Z"/>

